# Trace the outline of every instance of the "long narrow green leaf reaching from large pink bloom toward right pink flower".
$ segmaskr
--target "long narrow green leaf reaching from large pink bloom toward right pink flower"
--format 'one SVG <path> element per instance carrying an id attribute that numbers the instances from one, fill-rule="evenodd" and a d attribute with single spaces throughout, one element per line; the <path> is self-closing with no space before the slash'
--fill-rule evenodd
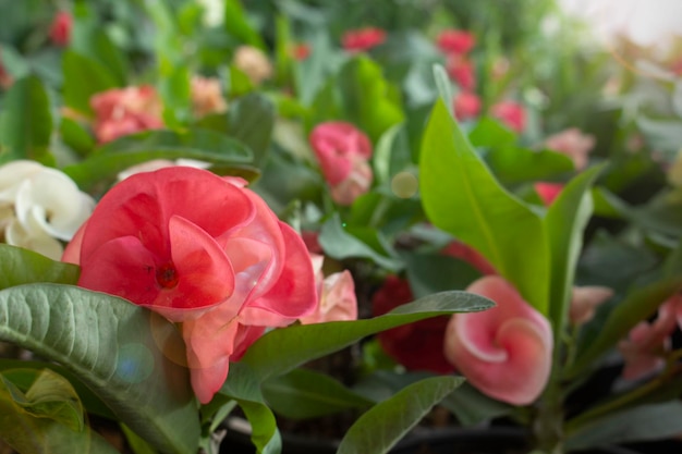
<path id="1" fill-rule="evenodd" d="M 248 365 L 257 377 L 265 380 L 379 331 L 429 317 L 479 311 L 492 306 L 492 302 L 482 296 L 452 291 L 419 298 L 372 319 L 290 326 L 272 330 L 258 339 L 248 347 L 241 363 Z"/>

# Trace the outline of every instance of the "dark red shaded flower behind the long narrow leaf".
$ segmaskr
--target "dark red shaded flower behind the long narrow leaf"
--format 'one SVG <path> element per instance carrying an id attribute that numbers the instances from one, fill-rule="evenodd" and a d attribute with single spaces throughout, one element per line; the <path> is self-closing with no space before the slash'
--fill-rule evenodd
<path id="1" fill-rule="evenodd" d="M 413 299 L 407 281 L 389 275 L 372 298 L 374 315 L 383 315 Z M 410 370 L 449 373 L 454 367 L 442 348 L 448 320 L 443 316 L 404 324 L 378 333 L 377 340 L 390 357 Z"/>

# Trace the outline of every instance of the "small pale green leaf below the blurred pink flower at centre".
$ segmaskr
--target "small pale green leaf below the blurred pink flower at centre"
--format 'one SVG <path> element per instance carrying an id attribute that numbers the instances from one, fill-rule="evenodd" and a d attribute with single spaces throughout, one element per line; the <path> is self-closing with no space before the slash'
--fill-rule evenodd
<path id="1" fill-rule="evenodd" d="M 349 257 L 368 258 L 377 265 L 397 271 L 402 268 L 398 257 L 390 257 L 377 251 L 360 238 L 349 233 L 337 213 L 325 222 L 319 233 L 319 244 L 325 253 L 336 259 Z"/>

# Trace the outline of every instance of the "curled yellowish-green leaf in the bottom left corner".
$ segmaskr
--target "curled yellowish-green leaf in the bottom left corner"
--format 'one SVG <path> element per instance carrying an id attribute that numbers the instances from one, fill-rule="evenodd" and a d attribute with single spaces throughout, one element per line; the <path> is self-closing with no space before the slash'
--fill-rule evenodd
<path id="1" fill-rule="evenodd" d="M 24 454 L 117 452 L 83 425 L 69 381 L 49 370 L 35 372 L 25 392 L 0 375 L 0 440 Z"/>

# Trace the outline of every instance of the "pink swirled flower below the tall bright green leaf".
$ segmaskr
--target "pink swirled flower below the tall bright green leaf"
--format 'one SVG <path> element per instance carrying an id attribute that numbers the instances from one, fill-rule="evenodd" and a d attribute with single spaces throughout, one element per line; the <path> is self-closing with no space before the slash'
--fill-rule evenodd
<path id="1" fill-rule="evenodd" d="M 533 403 L 551 370 L 549 322 L 498 275 L 480 278 L 466 291 L 497 306 L 452 316 L 446 357 L 483 393 L 513 405 Z"/>

